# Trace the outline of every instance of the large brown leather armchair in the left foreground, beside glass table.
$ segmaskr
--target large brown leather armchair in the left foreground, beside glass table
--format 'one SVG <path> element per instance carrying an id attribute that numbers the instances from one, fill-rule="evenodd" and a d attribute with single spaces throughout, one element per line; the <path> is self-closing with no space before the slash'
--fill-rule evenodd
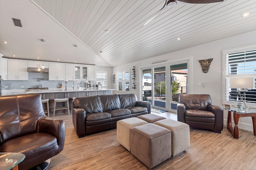
<path id="1" fill-rule="evenodd" d="M 40 94 L 0 96 L 0 152 L 25 154 L 19 170 L 32 168 L 63 150 L 64 121 L 45 118 Z"/>

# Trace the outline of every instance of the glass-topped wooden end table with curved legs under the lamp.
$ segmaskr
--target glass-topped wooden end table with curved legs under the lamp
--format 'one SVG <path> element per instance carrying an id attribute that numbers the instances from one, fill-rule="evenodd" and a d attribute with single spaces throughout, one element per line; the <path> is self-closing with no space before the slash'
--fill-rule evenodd
<path id="1" fill-rule="evenodd" d="M 234 138 L 238 139 L 239 137 L 238 121 L 240 117 L 252 117 L 253 132 L 254 132 L 254 135 L 256 136 L 256 109 L 253 109 L 253 108 L 238 109 L 235 106 L 224 107 L 224 109 L 228 110 L 227 128 L 230 131 L 230 133 L 234 136 Z M 233 112 L 234 123 L 235 123 L 234 127 L 232 127 L 232 120 L 231 120 L 232 112 Z"/>

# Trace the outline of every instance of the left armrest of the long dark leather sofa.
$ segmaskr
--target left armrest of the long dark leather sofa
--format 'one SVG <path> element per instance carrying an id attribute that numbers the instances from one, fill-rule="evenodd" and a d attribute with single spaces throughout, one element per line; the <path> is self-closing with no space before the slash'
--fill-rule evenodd
<path id="1" fill-rule="evenodd" d="M 83 108 L 74 107 L 72 110 L 73 125 L 78 137 L 84 137 L 86 111 Z"/>

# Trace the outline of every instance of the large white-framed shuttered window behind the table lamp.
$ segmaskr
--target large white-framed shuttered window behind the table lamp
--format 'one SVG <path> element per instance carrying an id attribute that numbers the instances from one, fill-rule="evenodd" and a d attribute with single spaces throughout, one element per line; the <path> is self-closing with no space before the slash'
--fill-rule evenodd
<path id="1" fill-rule="evenodd" d="M 239 102 L 238 89 L 230 88 L 230 78 L 256 77 L 256 46 L 224 51 L 223 104 Z M 244 92 L 241 92 L 244 93 Z M 246 103 L 256 103 L 256 89 L 245 92 Z"/>

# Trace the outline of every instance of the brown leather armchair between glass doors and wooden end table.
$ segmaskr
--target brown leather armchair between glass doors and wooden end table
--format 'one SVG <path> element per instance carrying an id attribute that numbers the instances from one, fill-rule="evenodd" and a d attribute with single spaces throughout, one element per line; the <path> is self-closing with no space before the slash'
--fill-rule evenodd
<path id="1" fill-rule="evenodd" d="M 212 105 L 208 94 L 181 94 L 177 114 L 178 121 L 187 123 L 190 127 L 218 133 L 223 130 L 223 108 Z"/>

